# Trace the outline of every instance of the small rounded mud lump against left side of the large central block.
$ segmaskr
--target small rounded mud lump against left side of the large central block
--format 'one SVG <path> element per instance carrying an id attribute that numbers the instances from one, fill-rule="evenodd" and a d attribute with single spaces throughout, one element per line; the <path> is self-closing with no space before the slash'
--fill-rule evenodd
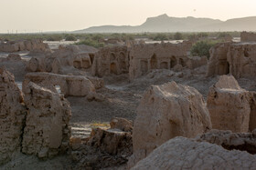
<path id="1" fill-rule="evenodd" d="M 133 122 L 121 117 L 114 117 L 110 123 L 112 129 L 120 129 L 124 132 L 133 132 Z"/>

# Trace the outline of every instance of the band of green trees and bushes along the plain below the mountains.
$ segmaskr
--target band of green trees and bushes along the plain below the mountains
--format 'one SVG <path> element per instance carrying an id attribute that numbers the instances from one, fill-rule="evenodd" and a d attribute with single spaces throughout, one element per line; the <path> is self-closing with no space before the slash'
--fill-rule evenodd
<path id="1" fill-rule="evenodd" d="M 105 44 L 101 43 L 103 39 L 120 39 L 120 40 L 134 40 L 136 38 L 147 38 L 155 41 L 164 40 L 204 40 L 199 41 L 193 45 L 192 55 L 207 55 L 208 49 L 218 43 L 219 40 L 208 40 L 209 37 L 217 37 L 217 39 L 225 38 L 226 36 L 239 36 L 239 32 L 229 33 L 143 33 L 143 34 L 23 34 L 23 35 L 0 35 L 3 40 L 17 40 L 17 39 L 35 39 L 40 38 L 47 41 L 77 41 L 77 45 L 91 45 L 94 47 L 103 47 Z"/>

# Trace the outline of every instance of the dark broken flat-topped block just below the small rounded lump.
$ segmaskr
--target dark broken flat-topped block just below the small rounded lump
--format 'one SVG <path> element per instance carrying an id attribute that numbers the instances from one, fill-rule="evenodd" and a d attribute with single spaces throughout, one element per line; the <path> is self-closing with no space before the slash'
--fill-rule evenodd
<path id="1" fill-rule="evenodd" d="M 131 133 L 117 129 L 92 129 L 88 145 L 100 148 L 101 152 L 111 155 L 133 154 L 133 139 Z"/>

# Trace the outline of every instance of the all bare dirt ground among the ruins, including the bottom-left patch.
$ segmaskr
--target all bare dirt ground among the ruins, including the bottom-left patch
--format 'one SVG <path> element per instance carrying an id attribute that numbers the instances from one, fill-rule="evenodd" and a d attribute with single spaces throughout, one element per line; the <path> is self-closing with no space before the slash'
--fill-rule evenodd
<path id="1" fill-rule="evenodd" d="M 6 54 L 0 54 L 6 57 Z M 27 61 L 27 55 L 23 55 Z M 7 70 L 16 75 L 16 82 L 21 82 L 26 75 L 26 64 L 19 62 L 0 63 Z M 112 75 L 104 77 L 105 87 L 97 90 L 103 95 L 102 101 L 88 101 L 86 97 L 68 97 L 72 117 L 70 120 L 71 135 L 86 138 L 91 133 L 92 127 L 108 126 L 112 117 L 123 117 L 134 121 L 136 108 L 143 97 L 145 90 L 150 85 L 162 85 L 176 81 L 177 84 L 195 87 L 207 100 L 208 88 L 218 81 L 218 76 L 206 77 L 207 66 L 201 66 L 194 70 L 184 69 L 181 72 L 172 70 L 154 70 L 139 77 L 132 82 L 128 75 Z M 256 80 L 241 78 L 240 86 L 246 90 L 256 91 Z M 70 155 L 60 155 L 51 160 L 38 160 L 35 156 L 18 154 L 14 161 L 0 166 L 0 169 L 73 169 Z M 119 167 L 118 169 L 124 167 Z M 115 169 L 113 167 L 109 169 Z"/>

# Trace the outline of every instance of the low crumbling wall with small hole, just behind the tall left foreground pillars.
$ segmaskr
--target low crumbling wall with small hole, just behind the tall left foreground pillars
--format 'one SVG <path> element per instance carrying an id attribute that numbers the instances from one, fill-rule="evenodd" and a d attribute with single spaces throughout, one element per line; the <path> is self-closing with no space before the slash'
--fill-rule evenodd
<path id="1" fill-rule="evenodd" d="M 37 85 L 46 87 L 53 92 L 56 91 L 56 87 L 59 85 L 60 91 L 65 96 L 85 96 L 91 92 L 95 92 L 95 86 L 85 76 L 81 75 L 56 75 L 50 73 L 29 73 L 25 76 L 23 82 L 23 89 L 33 82 Z M 95 84 L 101 84 L 101 82 L 94 82 Z"/>

